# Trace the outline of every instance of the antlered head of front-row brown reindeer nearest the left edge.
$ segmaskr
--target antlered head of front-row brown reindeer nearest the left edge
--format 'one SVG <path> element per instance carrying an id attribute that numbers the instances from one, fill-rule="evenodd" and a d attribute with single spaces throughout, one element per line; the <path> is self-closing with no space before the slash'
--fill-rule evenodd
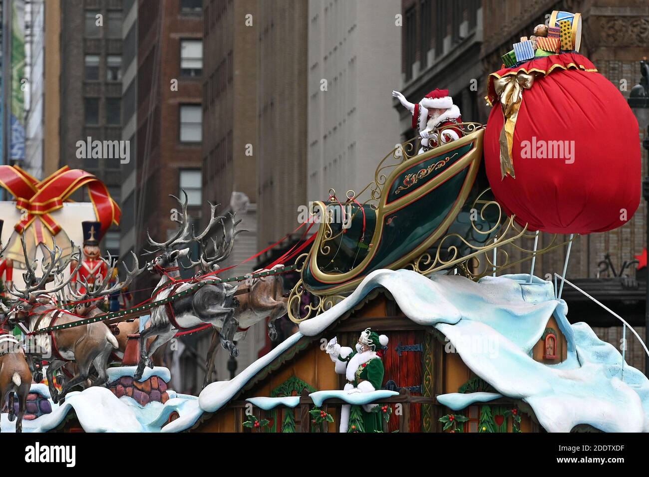
<path id="1" fill-rule="evenodd" d="M 21 243 L 23 245 L 23 254 L 25 255 L 25 267 L 27 271 L 23 274 L 25 277 L 25 288 L 18 288 L 14 285 L 8 292 L 14 297 L 14 300 L 9 308 L 0 304 L 3 313 L 5 313 L 8 323 L 15 324 L 18 321 L 23 321 L 29 317 L 31 311 L 41 305 L 49 304 L 51 302 L 50 295 L 60 291 L 66 287 L 71 277 L 74 276 L 81 266 L 80 255 L 81 251 L 77 247 L 76 252 L 75 245 L 72 244 L 73 253 L 68 260 L 63 260 L 63 251 L 60 247 L 56 246 L 56 241 L 53 245 L 53 250 L 49 249 L 46 245 L 43 245 L 46 255 L 49 255 L 49 263 L 45 265 L 45 258 L 41 263 L 42 276 L 38 277 L 36 275 L 36 260 L 33 263 L 29 261 L 27 256 L 27 245 L 25 243 L 25 236 L 21 236 Z M 73 273 L 67 278 L 63 278 L 64 271 L 67 268 L 68 263 L 73 258 L 77 259 L 77 268 Z M 45 287 L 49 282 L 55 280 L 55 286 L 50 289 L 45 290 Z M 56 278 L 60 277 L 60 278 Z"/>

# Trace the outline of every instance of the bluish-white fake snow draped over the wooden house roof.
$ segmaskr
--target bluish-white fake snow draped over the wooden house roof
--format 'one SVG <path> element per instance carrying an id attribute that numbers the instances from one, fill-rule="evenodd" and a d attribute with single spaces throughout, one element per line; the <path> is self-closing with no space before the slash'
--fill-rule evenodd
<path id="1" fill-rule="evenodd" d="M 407 319 L 437 328 L 467 366 L 495 389 L 495 393 L 440 396 L 439 402 L 449 408 L 459 410 L 502 395 L 529 404 L 548 432 L 569 432 L 579 424 L 606 432 L 649 431 L 649 380 L 626 363 L 622 366 L 620 352 L 598 339 L 590 326 L 570 324 L 567 304 L 554 297 L 550 282 L 536 277 L 531 283 L 528 280 L 529 275 L 504 275 L 472 282 L 458 275 L 426 278 L 413 271 L 374 271 L 349 297 L 300 323 L 299 332 L 232 380 L 208 385 L 198 397 L 167 391 L 165 404 L 140 406 L 132 398 L 117 398 L 108 389 L 92 387 L 70 393 L 62 406 L 53 405 L 50 415 L 23 421 L 23 430 L 52 430 L 72 409 L 87 432 L 188 430 L 204 413 L 227 405 L 256 374 L 302 337 L 323 333 L 373 289 L 384 287 Z M 532 358 L 532 348 L 543 336 L 550 317 L 556 320 L 568 348 L 567 359 L 554 365 Z M 340 392 L 336 391 L 337 395 Z M 177 419 L 169 422 L 174 411 Z M 14 422 L 2 415 L 3 432 L 13 429 Z"/>

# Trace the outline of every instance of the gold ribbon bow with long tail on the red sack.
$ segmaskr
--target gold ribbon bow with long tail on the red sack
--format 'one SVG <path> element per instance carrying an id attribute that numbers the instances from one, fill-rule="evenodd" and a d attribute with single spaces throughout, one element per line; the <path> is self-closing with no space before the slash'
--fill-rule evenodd
<path id="1" fill-rule="evenodd" d="M 514 128 L 518 119 L 520 103 L 523 99 L 523 89 L 529 90 L 534 83 L 534 76 L 520 71 L 517 75 L 507 75 L 495 79 L 494 89 L 500 98 L 502 114 L 505 123 L 500 131 L 500 173 L 502 178 L 514 175 L 514 164 L 511 160 L 511 150 L 514 141 Z"/>

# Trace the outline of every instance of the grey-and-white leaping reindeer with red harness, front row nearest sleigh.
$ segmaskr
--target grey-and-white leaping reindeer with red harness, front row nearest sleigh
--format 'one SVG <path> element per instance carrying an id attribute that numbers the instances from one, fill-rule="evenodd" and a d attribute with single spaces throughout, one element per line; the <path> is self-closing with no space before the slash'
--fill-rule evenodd
<path id="1" fill-rule="evenodd" d="M 225 217 L 215 217 L 216 206 L 212 206 L 210 222 L 199 236 L 190 234 L 190 217 L 187 213 L 188 197 L 185 191 L 184 201 L 180 201 L 175 195 L 169 195 L 175 199 L 181 206 L 179 218 L 175 221 L 180 225 L 178 232 L 164 242 L 156 242 L 151 238 L 147 230 L 147 239 L 149 245 L 154 247 L 153 251 L 146 250 L 147 254 L 156 254 L 156 258 L 147 265 L 151 273 L 160 275 L 160 281 L 154 291 L 154 299 L 162 300 L 176 293 L 194 287 L 202 280 L 213 280 L 212 276 L 197 276 L 192 282 L 177 282 L 180 278 L 180 260 L 188 258 L 190 249 L 186 247 L 191 243 L 199 242 L 205 238 L 208 231 L 217 223 L 223 223 Z M 205 264 L 210 267 L 212 263 L 224 260 L 232 251 L 234 237 L 243 230 L 233 230 L 228 234 L 227 241 L 219 245 L 220 254 L 208 259 Z M 176 247 L 185 247 L 177 249 Z M 151 356 L 164 343 L 173 338 L 178 329 L 193 328 L 201 323 L 210 323 L 215 328 L 221 330 L 221 345 L 230 351 L 232 356 L 238 355 L 238 350 L 232 342 L 232 337 L 238 326 L 233 319 L 234 310 L 237 304 L 234 295 L 237 289 L 236 285 L 226 283 L 208 284 L 196 289 L 196 291 L 182 297 L 178 300 L 163 304 L 151 309 L 151 326 L 140 333 L 140 362 L 134 378 L 140 379 L 145 366 L 153 367 Z M 147 350 L 147 338 L 156 336 L 151 346 Z"/>

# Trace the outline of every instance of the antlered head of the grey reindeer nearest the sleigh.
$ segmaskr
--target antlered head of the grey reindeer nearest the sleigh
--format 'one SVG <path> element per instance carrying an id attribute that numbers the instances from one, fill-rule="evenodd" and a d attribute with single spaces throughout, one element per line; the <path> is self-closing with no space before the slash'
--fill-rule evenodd
<path id="1" fill-rule="evenodd" d="M 190 217 L 187 213 L 187 193 L 184 190 L 182 191 L 182 193 L 184 195 L 184 201 L 180 201 L 180 199 L 178 199 L 178 197 L 176 197 L 175 195 L 169 195 L 169 197 L 173 197 L 173 199 L 176 199 L 176 201 L 178 201 L 178 204 L 180 204 L 180 207 L 182 209 L 182 212 L 180 212 L 179 214 L 180 217 L 175 220 L 175 222 L 180 225 L 178 232 L 176 232 L 174 236 L 172 236 L 165 242 L 156 242 L 151 238 L 147 230 L 149 245 L 154 248 L 152 251 L 147 250 L 145 252 L 149 254 L 157 254 L 156 258 L 154 258 L 147 264 L 147 269 L 151 273 L 158 273 L 159 275 L 177 273 L 178 269 L 180 268 L 180 261 L 182 260 L 182 258 L 190 256 L 190 248 L 186 246 L 192 243 L 199 244 L 199 248 L 201 249 L 201 256 L 199 258 L 199 261 L 197 262 L 194 262 L 190 258 L 190 267 L 201 265 L 201 269 L 202 271 L 204 271 L 204 273 L 215 271 L 216 269 L 218 269 L 217 263 L 225 260 L 232 252 L 232 248 L 234 247 L 234 238 L 239 234 L 239 232 L 245 232 L 245 230 L 236 230 L 236 226 L 241 221 L 235 222 L 234 214 L 229 214 L 230 226 L 228 228 L 225 223 L 227 217 L 225 217 L 224 215 L 219 215 L 217 217 L 215 215 L 215 212 L 218 205 L 210 203 L 210 222 L 201 232 L 201 234 L 195 235 L 193 226 L 191 226 L 190 224 Z M 223 228 L 223 235 L 220 241 L 216 241 L 214 238 L 210 237 L 210 239 L 212 239 L 212 243 L 214 244 L 214 256 L 210 257 L 206 253 L 206 237 L 208 237 L 208 234 L 217 223 L 221 224 L 221 227 Z M 179 249 L 178 247 L 184 248 Z"/>

